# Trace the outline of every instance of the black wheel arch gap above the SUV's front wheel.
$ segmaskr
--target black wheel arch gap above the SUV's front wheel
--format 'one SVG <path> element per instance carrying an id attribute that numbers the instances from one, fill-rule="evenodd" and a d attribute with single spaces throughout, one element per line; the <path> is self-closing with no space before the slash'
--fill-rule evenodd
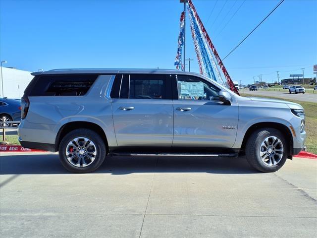
<path id="1" fill-rule="evenodd" d="M 278 123 L 278 122 L 258 122 L 258 123 L 251 125 L 243 137 L 241 150 L 242 151 L 245 150 L 246 143 L 254 131 L 256 131 L 257 129 L 260 129 L 260 128 L 267 128 L 267 127 L 277 129 L 280 132 L 282 132 L 283 135 L 285 135 L 285 139 L 289 142 L 289 144 L 288 144 L 289 145 L 289 155 L 292 155 L 293 154 L 292 132 L 285 124 Z"/>

